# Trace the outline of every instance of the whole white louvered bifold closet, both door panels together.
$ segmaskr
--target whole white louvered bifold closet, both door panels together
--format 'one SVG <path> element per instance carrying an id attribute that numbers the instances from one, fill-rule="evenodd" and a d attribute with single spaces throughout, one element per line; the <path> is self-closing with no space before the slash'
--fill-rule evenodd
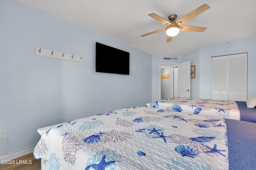
<path id="1" fill-rule="evenodd" d="M 212 100 L 247 100 L 247 53 L 212 57 Z"/>

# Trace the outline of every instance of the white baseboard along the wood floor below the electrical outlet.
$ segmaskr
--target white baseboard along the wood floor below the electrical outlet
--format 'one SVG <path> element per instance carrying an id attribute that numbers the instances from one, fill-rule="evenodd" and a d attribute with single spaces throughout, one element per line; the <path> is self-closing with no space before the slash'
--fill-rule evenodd
<path id="1" fill-rule="evenodd" d="M 32 147 L 28 147 L 28 148 L 25 148 L 25 149 L 17 150 L 15 152 L 9 153 L 7 155 L 1 156 L 0 160 L 13 160 L 13 159 L 19 158 L 20 156 L 30 154 L 30 153 L 33 152 L 35 147 L 36 146 L 32 146 Z"/>

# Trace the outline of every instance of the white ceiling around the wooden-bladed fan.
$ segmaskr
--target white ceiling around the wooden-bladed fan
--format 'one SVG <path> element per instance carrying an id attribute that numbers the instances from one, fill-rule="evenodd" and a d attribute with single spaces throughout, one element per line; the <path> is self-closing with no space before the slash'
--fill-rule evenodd
<path id="1" fill-rule="evenodd" d="M 256 0 L 18 0 L 152 55 L 182 55 L 198 47 L 256 36 Z M 206 10 L 185 25 L 208 27 L 204 32 L 180 31 L 166 43 L 165 28 L 148 14 L 168 20 L 202 4 Z"/>

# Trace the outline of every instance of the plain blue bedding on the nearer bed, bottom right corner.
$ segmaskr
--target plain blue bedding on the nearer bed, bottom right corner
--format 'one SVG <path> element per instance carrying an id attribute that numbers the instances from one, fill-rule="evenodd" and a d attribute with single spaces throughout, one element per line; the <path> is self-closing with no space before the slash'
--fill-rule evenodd
<path id="1" fill-rule="evenodd" d="M 256 169 L 256 124 L 225 119 L 228 135 L 229 170 Z"/>

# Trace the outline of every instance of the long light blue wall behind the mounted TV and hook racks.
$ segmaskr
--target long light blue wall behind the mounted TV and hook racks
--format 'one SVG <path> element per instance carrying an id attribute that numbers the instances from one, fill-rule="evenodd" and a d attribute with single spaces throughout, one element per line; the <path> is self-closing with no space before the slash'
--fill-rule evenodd
<path id="1" fill-rule="evenodd" d="M 0 1 L 0 156 L 36 145 L 37 129 L 152 99 L 151 55 L 15 0 Z M 95 42 L 130 52 L 130 75 L 96 73 Z M 84 56 L 36 56 L 35 47 Z M 132 66 L 147 68 L 133 71 Z"/>

